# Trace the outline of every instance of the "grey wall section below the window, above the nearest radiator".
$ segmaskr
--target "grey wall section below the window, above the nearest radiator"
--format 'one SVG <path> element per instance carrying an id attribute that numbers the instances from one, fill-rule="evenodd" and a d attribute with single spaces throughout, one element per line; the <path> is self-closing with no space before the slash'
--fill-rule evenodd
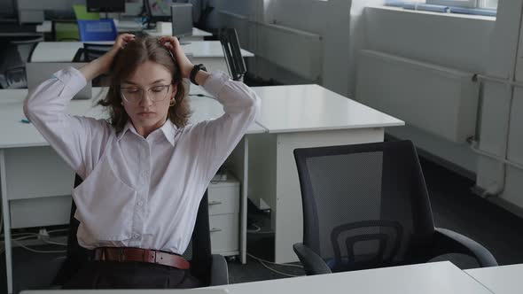
<path id="1" fill-rule="evenodd" d="M 367 49 L 484 73 L 494 18 L 367 8 Z"/>

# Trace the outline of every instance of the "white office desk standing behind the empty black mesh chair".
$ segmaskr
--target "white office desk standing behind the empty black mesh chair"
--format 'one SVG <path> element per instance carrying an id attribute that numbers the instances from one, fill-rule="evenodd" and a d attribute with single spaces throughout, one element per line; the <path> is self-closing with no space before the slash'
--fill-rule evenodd
<path id="1" fill-rule="evenodd" d="M 293 244 L 302 242 L 301 190 L 295 148 L 381 142 L 394 119 L 318 85 L 254 87 L 262 98 L 256 120 L 268 134 L 250 142 L 249 197 L 271 209 L 275 261 L 298 261 Z"/>

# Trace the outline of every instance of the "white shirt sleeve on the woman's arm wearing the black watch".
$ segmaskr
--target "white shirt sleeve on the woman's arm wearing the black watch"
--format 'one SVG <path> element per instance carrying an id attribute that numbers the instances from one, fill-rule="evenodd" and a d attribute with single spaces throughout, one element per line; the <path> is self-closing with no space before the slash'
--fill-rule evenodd
<path id="1" fill-rule="evenodd" d="M 234 150 L 247 128 L 254 122 L 260 98 L 243 82 L 232 81 L 228 74 L 213 72 L 202 85 L 223 105 L 223 115 L 197 124 L 201 135 L 206 179 L 210 181 Z"/>

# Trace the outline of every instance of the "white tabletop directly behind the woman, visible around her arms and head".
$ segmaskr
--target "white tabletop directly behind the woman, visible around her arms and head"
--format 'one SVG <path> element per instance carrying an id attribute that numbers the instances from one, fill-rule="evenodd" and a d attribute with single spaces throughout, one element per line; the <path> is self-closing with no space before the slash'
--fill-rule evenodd
<path id="1" fill-rule="evenodd" d="M 193 93 L 204 93 L 199 87 L 191 87 Z M 86 100 L 72 100 L 69 113 L 85 115 L 96 119 L 103 119 L 106 113 L 101 106 L 96 105 L 98 98 L 104 97 L 106 88 L 93 88 L 93 98 Z M 0 149 L 17 147 L 48 146 L 49 143 L 31 124 L 23 123 L 23 100 L 27 97 L 27 89 L 0 90 Z M 190 123 L 218 118 L 223 113 L 220 103 L 208 97 L 190 97 L 191 119 Z M 247 130 L 247 134 L 266 132 L 255 122 Z"/>

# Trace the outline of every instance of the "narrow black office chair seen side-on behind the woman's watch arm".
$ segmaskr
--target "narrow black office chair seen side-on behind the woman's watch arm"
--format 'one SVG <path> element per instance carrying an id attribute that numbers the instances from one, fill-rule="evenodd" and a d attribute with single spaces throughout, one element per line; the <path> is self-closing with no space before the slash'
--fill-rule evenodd
<path id="1" fill-rule="evenodd" d="M 246 63 L 241 56 L 238 34 L 235 28 L 222 28 L 218 31 L 220 43 L 225 56 L 230 78 L 233 81 L 242 81 L 247 72 Z"/>

